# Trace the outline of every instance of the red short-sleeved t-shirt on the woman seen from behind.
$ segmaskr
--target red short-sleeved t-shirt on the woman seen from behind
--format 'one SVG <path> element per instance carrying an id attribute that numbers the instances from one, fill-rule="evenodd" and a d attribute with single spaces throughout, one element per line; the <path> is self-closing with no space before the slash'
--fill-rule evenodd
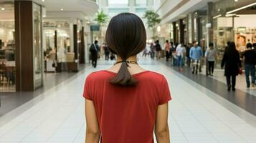
<path id="1" fill-rule="evenodd" d="M 92 100 L 103 143 L 152 143 L 159 104 L 171 100 L 166 78 L 153 71 L 133 74 L 136 87 L 108 82 L 111 71 L 96 71 L 85 80 L 83 97 Z"/>

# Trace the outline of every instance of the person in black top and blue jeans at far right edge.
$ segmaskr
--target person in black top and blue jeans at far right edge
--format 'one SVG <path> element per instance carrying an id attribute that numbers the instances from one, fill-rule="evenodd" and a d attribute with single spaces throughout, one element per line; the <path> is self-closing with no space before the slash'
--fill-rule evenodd
<path id="1" fill-rule="evenodd" d="M 252 49 L 252 44 L 248 43 L 247 50 L 245 51 L 245 79 L 247 88 L 250 88 L 250 75 L 252 77 L 252 87 L 255 87 L 255 65 L 256 65 L 256 52 Z"/>

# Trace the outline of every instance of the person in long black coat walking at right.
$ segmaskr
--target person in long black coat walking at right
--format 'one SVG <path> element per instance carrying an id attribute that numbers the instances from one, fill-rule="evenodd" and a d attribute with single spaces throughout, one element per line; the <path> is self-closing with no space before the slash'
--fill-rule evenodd
<path id="1" fill-rule="evenodd" d="M 232 87 L 232 91 L 235 91 L 236 77 L 239 74 L 242 65 L 240 61 L 240 54 L 237 51 L 233 41 L 229 43 L 229 46 L 224 52 L 222 59 L 222 69 L 224 66 L 224 75 L 227 79 L 227 90 L 230 91 Z M 231 79 L 232 84 L 230 84 Z"/>

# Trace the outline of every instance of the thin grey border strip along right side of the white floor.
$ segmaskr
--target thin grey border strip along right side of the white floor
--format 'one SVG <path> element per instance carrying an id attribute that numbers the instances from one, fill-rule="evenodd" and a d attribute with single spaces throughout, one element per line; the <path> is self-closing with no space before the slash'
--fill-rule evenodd
<path id="1" fill-rule="evenodd" d="M 211 90 L 207 89 L 206 87 L 203 87 L 200 84 L 197 84 L 196 82 L 192 81 L 191 79 L 189 79 L 188 77 L 185 77 L 184 75 L 178 73 L 177 71 L 175 71 L 174 69 L 171 69 L 170 67 L 166 66 L 165 64 L 160 63 L 163 67 L 166 67 L 169 71 L 172 71 L 174 74 L 176 74 L 178 77 L 181 77 L 182 80 L 184 80 L 185 82 L 189 82 L 191 83 L 191 85 L 193 87 L 196 87 L 196 89 L 198 89 L 200 91 L 200 89 L 206 89 L 207 92 L 209 92 L 209 94 L 206 94 L 207 97 L 210 97 L 210 99 L 212 99 L 214 102 L 216 102 L 217 104 L 221 105 L 222 107 L 224 107 L 225 109 L 227 109 L 229 112 L 232 112 L 233 114 L 237 115 L 237 117 L 240 117 L 240 119 L 244 120 L 245 122 L 249 122 L 247 120 L 250 120 L 250 124 L 255 127 L 256 126 L 256 117 L 251 114 L 250 112 L 247 112 L 245 109 L 242 109 L 241 107 L 238 107 L 236 104 L 233 104 L 232 102 L 229 102 L 229 100 L 224 99 L 223 97 L 219 96 L 218 94 L 212 92 Z M 203 93 L 204 94 L 204 93 Z M 215 99 L 217 98 L 217 99 Z M 219 100 L 220 101 L 219 101 Z M 226 104 L 226 103 L 228 104 Z M 222 103 L 222 104 L 221 104 Z M 230 109 L 233 110 L 239 110 L 240 112 L 242 112 L 247 119 L 243 119 L 241 117 L 241 115 L 238 115 L 237 113 L 230 111 Z M 253 122 L 253 124 L 251 123 Z"/>

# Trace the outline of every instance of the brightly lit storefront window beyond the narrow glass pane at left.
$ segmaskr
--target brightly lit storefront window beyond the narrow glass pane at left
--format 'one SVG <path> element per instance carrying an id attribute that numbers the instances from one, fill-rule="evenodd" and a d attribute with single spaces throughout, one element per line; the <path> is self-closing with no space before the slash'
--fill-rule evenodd
<path id="1" fill-rule="evenodd" d="M 44 19 L 43 27 L 44 62 L 46 63 L 44 71 L 55 71 L 53 63 L 74 61 L 74 49 L 70 48 L 70 21 Z"/>

